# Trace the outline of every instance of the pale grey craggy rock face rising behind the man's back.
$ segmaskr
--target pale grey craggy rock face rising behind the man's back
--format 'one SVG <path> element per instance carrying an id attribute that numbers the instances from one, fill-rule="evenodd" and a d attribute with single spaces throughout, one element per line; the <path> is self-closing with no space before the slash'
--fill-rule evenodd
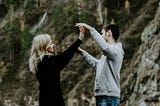
<path id="1" fill-rule="evenodd" d="M 127 68 L 129 76 L 122 82 L 125 106 L 160 105 L 160 4 L 154 19 L 141 33 L 141 45 Z M 122 74 L 123 75 L 123 74 Z"/>

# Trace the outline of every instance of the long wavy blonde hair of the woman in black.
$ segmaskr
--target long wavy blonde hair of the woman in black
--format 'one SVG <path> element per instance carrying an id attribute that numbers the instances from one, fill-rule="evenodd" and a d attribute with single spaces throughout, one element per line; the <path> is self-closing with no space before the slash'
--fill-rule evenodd
<path id="1" fill-rule="evenodd" d="M 50 41 L 51 37 L 48 34 L 40 34 L 34 37 L 29 58 L 29 69 L 31 72 L 36 73 L 37 64 L 47 54 L 47 47 Z"/>

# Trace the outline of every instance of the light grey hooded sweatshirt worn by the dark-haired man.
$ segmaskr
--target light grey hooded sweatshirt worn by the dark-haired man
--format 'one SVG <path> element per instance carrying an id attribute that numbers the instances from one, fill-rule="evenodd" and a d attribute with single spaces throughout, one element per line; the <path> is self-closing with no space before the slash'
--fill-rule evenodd
<path id="1" fill-rule="evenodd" d="M 90 29 L 90 33 L 103 52 L 101 58 L 97 59 L 82 51 L 85 60 L 96 70 L 95 96 L 120 97 L 120 70 L 124 57 L 122 44 L 108 44 L 94 28 Z"/>

